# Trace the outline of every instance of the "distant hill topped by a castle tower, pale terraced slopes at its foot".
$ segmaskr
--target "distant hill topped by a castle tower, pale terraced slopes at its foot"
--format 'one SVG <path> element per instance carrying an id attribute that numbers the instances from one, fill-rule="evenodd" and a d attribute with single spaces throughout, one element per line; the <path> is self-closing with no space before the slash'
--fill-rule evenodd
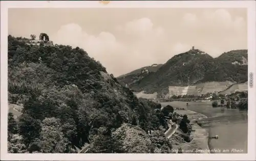
<path id="1" fill-rule="evenodd" d="M 171 93 L 220 92 L 226 90 L 232 84 L 247 81 L 247 61 L 247 50 L 231 50 L 217 58 L 212 58 L 199 49 L 191 49 L 174 56 L 156 72 L 148 73 L 138 80 L 129 82 L 129 79 L 131 79 L 129 76 L 123 79 L 135 92 L 144 91 L 144 93 L 149 94 L 157 92 L 158 96 L 162 94 L 172 95 Z M 119 79 L 119 81 L 121 80 Z M 205 84 L 210 82 L 215 83 Z M 185 87 L 188 89 L 184 89 Z M 193 92 L 187 93 L 186 91 Z"/>

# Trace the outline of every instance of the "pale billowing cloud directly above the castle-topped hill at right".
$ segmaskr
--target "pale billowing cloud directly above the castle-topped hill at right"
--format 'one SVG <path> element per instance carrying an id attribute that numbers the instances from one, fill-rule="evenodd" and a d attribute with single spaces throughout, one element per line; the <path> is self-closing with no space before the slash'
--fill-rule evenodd
<path id="1" fill-rule="evenodd" d="M 241 16 L 231 16 L 225 9 L 185 13 L 180 32 L 183 33 L 183 44 L 195 45 L 212 57 L 224 51 L 247 48 L 246 20 Z"/>

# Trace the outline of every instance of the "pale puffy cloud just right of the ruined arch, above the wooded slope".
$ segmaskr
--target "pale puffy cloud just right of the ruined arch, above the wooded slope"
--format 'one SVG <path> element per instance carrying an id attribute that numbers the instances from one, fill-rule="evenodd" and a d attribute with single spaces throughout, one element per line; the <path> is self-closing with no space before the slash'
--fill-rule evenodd
<path id="1" fill-rule="evenodd" d="M 115 72 L 118 65 L 119 53 L 123 50 L 122 44 L 116 41 L 113 34 L 101 32 L 98 35 L 89 35 L 81 26 L 70 23 L 61 26 L 53 36 L 54 43 L 79 46 L 86 50 L 90 57 L 99 60 L 108 71 Z"/>

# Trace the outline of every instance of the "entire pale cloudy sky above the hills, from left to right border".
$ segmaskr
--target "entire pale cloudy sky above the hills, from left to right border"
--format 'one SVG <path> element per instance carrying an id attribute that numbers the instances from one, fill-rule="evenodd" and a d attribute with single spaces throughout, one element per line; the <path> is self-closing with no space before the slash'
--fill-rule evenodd
<path id="1" fill-rule="evenodd" d="M 212 57 L 247 49 L 246 9 L 35 9 L 8 11 L 8 34 L 47 33 L 79 46 L 115 76 L 165 63 L 191 46 Z"/>

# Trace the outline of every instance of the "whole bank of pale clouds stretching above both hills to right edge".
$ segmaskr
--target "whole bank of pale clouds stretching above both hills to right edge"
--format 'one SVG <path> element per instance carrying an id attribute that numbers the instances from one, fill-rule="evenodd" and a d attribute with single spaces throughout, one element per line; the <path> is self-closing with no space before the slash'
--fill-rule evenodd
<path id="1" fill-rule="evenodd" d="M 94 35 L 76 23 L 69 23 L 59 28 L 53 41 L 83 48 L 116 76 L 165 63 L 191 46 L 213 57 L 231 49 L 246 48 L 246 20 L 232 17 L 227 10 L 189 12 L 177 19 L 164 20 L 171 24 L 168 27 L 148 17 L 132 19 L 116 24 L 111 33 L 101 30 Z"/>

